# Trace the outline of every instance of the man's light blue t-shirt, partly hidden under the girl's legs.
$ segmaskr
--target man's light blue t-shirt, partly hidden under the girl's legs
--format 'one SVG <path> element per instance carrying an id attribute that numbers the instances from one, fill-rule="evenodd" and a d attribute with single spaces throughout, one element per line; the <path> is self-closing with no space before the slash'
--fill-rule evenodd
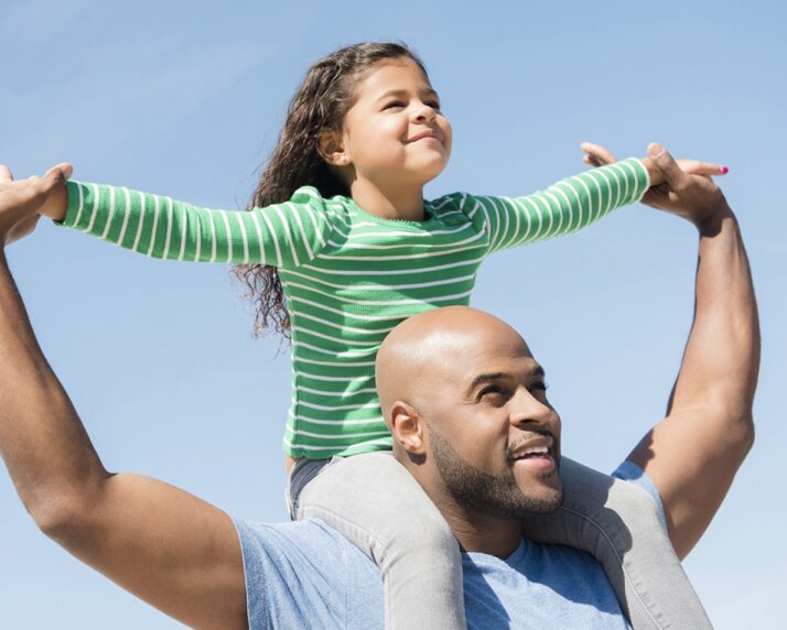
<path id="1" fill-rule="evenodd" d="M 637 466 L 614 475 L 646 488 L 661 509 Z M 342 534 L 320 520 L 235 524 L 252 630 L 382 629 L 379 569 Z M 505 560 L 463 553 L 462 568 L 471 630 L 629 628 L 603 567 L 579 550 L 522 540 Z"/>

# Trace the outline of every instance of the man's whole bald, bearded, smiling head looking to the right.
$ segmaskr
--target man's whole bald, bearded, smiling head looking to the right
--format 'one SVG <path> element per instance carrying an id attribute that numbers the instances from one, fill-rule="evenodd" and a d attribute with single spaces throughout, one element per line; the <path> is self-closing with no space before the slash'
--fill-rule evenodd
<path id="1" fill-rule="evenodd" d="M 560 417 L 510 326 L 451 306 L 407 319 L 377 355 L 394 450 L 442 509 L 500 519 L 556 510 Z"/>

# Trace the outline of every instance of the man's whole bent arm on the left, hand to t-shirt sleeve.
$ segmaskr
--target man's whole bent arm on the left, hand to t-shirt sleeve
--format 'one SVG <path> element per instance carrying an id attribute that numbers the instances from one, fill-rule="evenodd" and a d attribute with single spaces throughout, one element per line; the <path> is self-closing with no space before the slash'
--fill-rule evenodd
<path id="1" fill-rule="evenodd" d="M 76 557 L 188 626 L 246 628 L 230 519 L 172 486 L 108 472 L 37 345 L 4 245 L 62 185 L 63 174 L 11 182 L 0 167 L 0 455 L 37 525 Z"/>

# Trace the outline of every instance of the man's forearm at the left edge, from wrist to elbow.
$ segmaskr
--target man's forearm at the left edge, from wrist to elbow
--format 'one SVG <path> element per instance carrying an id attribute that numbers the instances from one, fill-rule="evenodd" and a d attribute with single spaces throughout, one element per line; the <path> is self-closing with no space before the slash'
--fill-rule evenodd
<path id="1" fill-rule="evenodd" d="M 46 530 L 55 530 L 108 476 L 41 352 L 2 250 L 0 455 L 20 498 Z"/>

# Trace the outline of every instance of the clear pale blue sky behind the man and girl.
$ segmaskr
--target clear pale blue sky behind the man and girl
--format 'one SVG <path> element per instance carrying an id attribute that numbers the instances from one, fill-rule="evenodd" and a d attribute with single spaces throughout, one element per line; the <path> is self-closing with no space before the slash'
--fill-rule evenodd
<path id="1" fill-rule="evenodd" d="M 686 561 L 720 629 L 772 628 L 787 584 L 784 3 L 4 0 L 0 162 L 242 208 L 309 65 L 403 40 L 454 126 L 430 184 L 517 195 L 662 142 L 730 166 L 763 325 L 757 442 Z M 40 226 L 8 252 L 41 344 L 112 470 L 280 521 L 287 349 L 254 340 L 226 265 L 165 263 Z M 563 450 L 612 470 L 664 412 L 691 322 L 696 236 L 645 207 L 482 268 L 474 305 L 546 366 Z M 283 349 L 283 351 L 278 351 Z M 0 627 L 177 624 L 45 539 L 0 474 Z"/>

